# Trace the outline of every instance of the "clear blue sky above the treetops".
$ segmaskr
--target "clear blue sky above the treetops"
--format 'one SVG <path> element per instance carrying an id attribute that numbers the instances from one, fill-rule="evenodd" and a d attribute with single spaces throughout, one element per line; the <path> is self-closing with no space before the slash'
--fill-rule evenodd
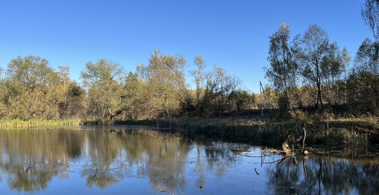
<path id="1" fill-rule="evenodd" d="M 268 36 L 282 22 L 293 35 L 316 23 L 354 56 L 372 37 L 360 15 L 363 2 L 0 0 L 0 66 L 18 55 L 37 55 L 53 68 L 69 66 L 79 80 L 89 60 L 107 58 L 135 71 L 160 49 L 182 53 L 191 64 L 201 54 L 209 67 L 226 68 L 259 91 L 259 80 L 266 82 Z"/>

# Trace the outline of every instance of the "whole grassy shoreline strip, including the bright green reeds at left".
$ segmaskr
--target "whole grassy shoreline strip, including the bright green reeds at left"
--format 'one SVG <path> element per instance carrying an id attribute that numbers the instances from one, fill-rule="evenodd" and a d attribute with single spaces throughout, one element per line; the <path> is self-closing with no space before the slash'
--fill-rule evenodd
<path id="1" fill-rule="evenodd" d="M 379 143 L 379 118 L 338 118 L 296 113 L 291 119 L 273 119 L 272 115 L 223 116 L 220 118 L 171 118 L 136 121 L 117 120 L 11 120 L 0 121 L 0 127 L 31 127 L 38 125 L 150 125 L 163 128 L 182 128 L 194 133 L 233 136 L 260 142 L 295 142 L 305 127 L 307 143 L 367 145 Z"/>

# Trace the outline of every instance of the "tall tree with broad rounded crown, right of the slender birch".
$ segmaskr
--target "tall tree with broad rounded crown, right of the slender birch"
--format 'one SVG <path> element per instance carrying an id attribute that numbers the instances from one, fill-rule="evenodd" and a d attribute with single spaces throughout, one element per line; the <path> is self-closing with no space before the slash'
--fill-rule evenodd
<path id="1" fill-rule="evenodd" d="M 329 42 L 324 29 L 311 24 L 296 42 L 293 51 L 299 66 L 298 73 L 305 82 L 317 87 L 315 107 L 318 107 L 323 104 L 323 84 L 326 85 L 334 77 L 340 77 L 343 69 L 338 45 Z"/>

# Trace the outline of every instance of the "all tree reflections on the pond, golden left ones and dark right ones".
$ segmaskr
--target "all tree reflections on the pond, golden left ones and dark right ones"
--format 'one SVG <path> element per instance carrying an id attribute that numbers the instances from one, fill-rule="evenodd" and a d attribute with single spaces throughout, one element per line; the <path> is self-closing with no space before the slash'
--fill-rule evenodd
<path id="1" fill-rule="evenodd" d="M 214 185 L 215 178 L 225 175 L 232 178 L 238 169 L 253 171 L 256 164 L 240 168 L 241 163 L 232 160 L 233 153 L 241 150 L 252 147 L 201 135 L 130 126 L 2 130 L 0 183 L 6 181 L 9 189 L 18 193 L 41 192 L 49 188 L 53 178 L 69 179 L 75 172 L 80 173 L 89 189 L 108 189 L 131 177 L 149 181 L 152 193 L 160 189 L 184 192 Z M 296 158 L 299 167 L 293 166 L 291 158 L 278 166 L 262 164 L 266 186 L 259 188 L 265 188 L 266 193 L 379 192 L 378 164 L 373 159 L 328 154 Z M 277 160 L 280 158 L 266 156 L 255 163 Z M 251 183 L 252 177 L 258 177 L 252 173 L 231 182 Z M 259 177 L 264 178 L 262 174 Z"/>

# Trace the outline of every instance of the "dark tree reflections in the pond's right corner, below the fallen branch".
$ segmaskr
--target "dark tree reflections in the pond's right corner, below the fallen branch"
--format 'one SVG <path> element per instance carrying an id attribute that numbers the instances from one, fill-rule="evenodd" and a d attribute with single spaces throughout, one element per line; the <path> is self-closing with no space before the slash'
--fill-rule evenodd
<path id="1" fill-rule="evenodd" d="M 307 156 L 306 156 L 307 157 Z M 333 154 L 296 155 L 299 167 L 286 159 L 278 166 L 266 166 L 267 189 L 275 193 L 375 194 L 379 192 L 378 168 L 373 158 Z M 294 187 L 294 188 L 291 188 Z"/>

